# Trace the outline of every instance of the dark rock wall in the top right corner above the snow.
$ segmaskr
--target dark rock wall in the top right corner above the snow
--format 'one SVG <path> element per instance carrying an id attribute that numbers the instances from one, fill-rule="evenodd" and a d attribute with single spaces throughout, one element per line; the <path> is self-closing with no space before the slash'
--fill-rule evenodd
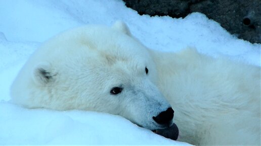
<path id="1" fill-rule="evenodd" d="M 140 15 L 186 17 L 200 12 L 219 22 L 231 34 L 252 43 L 261 43 L 260 0 L 123 0 Z"/>

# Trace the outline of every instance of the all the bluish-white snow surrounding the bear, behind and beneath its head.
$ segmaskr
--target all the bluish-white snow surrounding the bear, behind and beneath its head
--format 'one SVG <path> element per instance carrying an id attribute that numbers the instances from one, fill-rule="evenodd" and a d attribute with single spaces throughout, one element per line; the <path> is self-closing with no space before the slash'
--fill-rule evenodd
<path id="1" fill-rule="evenodd" d="M 0 144 L 154 144 L 189 145 L 164 138 L 128 120 L 92 111 L 25 109 L 10 104 L 10 86 L 41 42 L 84 24 L 122 20 L 147 47 L 179 51 L 195 47 L 261 66 L 261 44 L 229 34 L 203 14 L 184 19 L 140 16 L 119 0 L 0 0 Z"/>

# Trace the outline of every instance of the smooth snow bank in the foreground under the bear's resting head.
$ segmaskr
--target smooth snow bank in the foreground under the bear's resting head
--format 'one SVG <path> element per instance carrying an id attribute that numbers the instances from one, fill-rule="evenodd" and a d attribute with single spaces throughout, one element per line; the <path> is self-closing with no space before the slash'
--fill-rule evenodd
<path id="1" fill-rule="evenodd" d="M 0 119 L 0 144 L 186 145 L 106 113 L 25 109 L 1 102 Z"/>

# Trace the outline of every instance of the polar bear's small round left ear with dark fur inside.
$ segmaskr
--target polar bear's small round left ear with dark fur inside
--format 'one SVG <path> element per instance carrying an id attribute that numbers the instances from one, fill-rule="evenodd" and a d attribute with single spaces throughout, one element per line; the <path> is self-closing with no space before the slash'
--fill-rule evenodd
<path id="1" fill-rule="evenodd" d="M 38 85 L 50 83 L 55 75 L 50 63 L 40 63 L 33 69 L 33 80 Z"/>

